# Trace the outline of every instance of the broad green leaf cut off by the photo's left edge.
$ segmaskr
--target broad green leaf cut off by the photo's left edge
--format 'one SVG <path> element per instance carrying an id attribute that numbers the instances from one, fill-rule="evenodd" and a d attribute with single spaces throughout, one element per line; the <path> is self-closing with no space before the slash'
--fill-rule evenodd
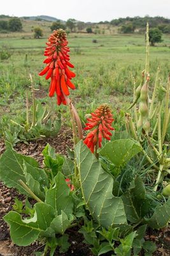
<path id="1" fill-rule="evenodd" d="M 0 158 L 0 179 L 8 188 L 17 188 L 21 193 L 27 194 L 22 188 L 18 180 L 23 180 L 24 183 L 24 161 L 34 168 L 38 168 L 39 164 L 31 157 L 17 154 L 11 147 L 9 142 L 6 142 L 6 151 Z"/>

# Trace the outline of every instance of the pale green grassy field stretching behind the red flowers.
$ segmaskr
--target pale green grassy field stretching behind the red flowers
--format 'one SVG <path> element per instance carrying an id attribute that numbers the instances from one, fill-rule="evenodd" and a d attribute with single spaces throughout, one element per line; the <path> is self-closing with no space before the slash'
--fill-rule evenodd
<path id="1" fill-rule="evenodd" d="M 45 28 L 47 37 L 49 28 L 46 23 Z M 25 90 L 30 85 L 30 73 L 35 87 L 43 92 L 43 99 L 39 100 L 50 100 L 49 81 L 38 76 L 44 67 L 43 51 L 46 37 L 33 39 L 31 33 L 10 33 L 6 37 L 0 36 L 1 51 L 7 49 L 11 52 L 11 57 L 0 63 L 0 115 L 3 123 L 1 127 L 5 127 L 10 118 L 15 119 L 16 116 L 25 113 Z M 71 63 L 75 66 L 74 83 L 77 88 L 71 92 L 71 98 L 81 115 L 85 111 L 90 112 L 91 106 L 96 106 L 99 102 L 110 102 L 113 109 L 121 108 L 125 111 L 127 101 L 132 100 L 134 79 L 138 85 L 141 71 L 145 68 L 145 36 L 82 33 L 69 34 L 68 40 Z M 97 43 L 93 43 L 93 40 L 97 40 Z M 170 35 L 166 35 L 163 36 L 161 44 L 150 47 L 150 86 L 154 83 L 158 66 L 161 68 L 161 83 L 167 81 L 170 70 L 169 58 Z M 55 104 L 54 98 L 52 101 Z M 2 135 L 2 128 L 0 132 Z"/>

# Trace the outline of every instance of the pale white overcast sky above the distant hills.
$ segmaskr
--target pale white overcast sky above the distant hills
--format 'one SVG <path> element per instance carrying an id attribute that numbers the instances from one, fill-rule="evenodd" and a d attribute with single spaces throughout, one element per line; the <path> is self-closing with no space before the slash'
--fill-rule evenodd
<path id="1" fill-rule="evenodd" d="M 145 15 L 170 18 L 170 0 L 1 0 L 0 14 L 48 15 L 85 22 Z"/>

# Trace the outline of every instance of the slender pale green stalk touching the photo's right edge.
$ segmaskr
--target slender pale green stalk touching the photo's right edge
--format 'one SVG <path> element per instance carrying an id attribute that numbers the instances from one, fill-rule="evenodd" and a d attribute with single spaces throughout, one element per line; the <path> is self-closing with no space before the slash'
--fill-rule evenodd
<path id="1" fill-rule="evenodd" d="M 170 74 L 168 77 L 167 81 L 167 90 L 166 90 L 166 109 L 165 109 L 165 115 L 164 115 L 164 124 L 162 128 L 162 144 L 164 143 L 165 136 L 166 136 L 166 131 L 167 131 L 167 126 L 169 123 L 169 90 L 170 90 Z"/>

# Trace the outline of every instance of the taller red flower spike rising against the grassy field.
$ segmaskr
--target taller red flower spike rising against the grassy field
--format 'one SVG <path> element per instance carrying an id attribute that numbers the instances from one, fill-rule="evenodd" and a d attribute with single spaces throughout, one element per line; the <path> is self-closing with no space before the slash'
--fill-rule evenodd
<path id="1" fill-rule="evenodd" d="M 69 70 L 68 67 L 74 66 L 69 62 L 69 47 L 67 47 L 66 33 L 62 29 L 53 31 L 48 38 L 45 48 L 45 56 L 47 58 L 43 61 L 46 67 L 39 73 L 39 76 L 46 74 L 46 79 L 51 78 L 49 96 L 52 97 L 54 93 L 57 94 L 57 104 L 66 105 L 64 94 L 69 95 L 69 88 L 75 89 L 71 83 L 72 77 L 76 75 Z M 64 94 L 63 94 L 64 93 Z"/>

